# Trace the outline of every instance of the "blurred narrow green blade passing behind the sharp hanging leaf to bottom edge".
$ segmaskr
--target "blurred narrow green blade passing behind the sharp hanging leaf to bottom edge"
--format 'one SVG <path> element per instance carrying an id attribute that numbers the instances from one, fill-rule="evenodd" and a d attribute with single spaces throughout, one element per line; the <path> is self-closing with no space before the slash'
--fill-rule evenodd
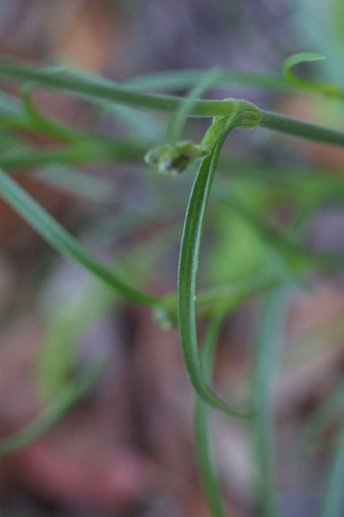
<path id="1" fill-rule="evenodd" d="M 224 314 L 211 316 L 204 339 L 202 362 L 204 376 L 211 383 L 216 344 Z M 218 480 L 210 431 L 210 407 L 201 397 L 196 397 L 194 414 L 195 447 L 200 465 L 200 474 L 209 508 L 214 517 L 224 517 L 221 489 Z"/>

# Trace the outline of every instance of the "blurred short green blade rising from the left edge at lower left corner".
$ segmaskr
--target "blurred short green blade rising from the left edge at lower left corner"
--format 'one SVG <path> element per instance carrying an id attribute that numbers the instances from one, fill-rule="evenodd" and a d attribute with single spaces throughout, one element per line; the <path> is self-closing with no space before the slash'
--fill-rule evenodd
<path id="1" fill-rule="evenodd" d="M 33 421 L 17 433 L 0 441 L 0 457 L 8 456 L 27 447 L 56 425 L 85 394 L 104 369 L 104 363 L 91 364 L 73 381 L 65 383 L 55 400 Z"/>

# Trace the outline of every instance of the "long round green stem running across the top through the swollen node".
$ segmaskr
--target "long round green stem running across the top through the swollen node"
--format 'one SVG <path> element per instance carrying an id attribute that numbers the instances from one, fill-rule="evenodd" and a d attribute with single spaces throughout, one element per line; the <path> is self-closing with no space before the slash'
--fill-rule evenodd
<path id="1" fill-rule="evenodd" d="M 181 102 L 183 102 L 183 99 L 180 97 L 142 93 L 126 86 L 119 86 L 117 84 L 110 86 L 95 79 L 79 80 L 65 74 L 52 74 L 42 69 L 37 70 L 5 61 L 0 62 L 0 75 L 22 81 L 35 81 L 41 86 L 109 99 L 148 110 L 171 113 L 177 111 Z M 236 102 L 235 99 L 197 100 L 194 102 L 188 115 L 193 117 L 227 117 L 231 115 Z M 261 127 L 293 136 L 301 136 L 302 138 L 316 140 L 325 144 L 344 147 L 344 132 L 342 131 L 309 124 L 264 110 L 260 110 L 260 112 L 261 120 L 258 125 Z"/>

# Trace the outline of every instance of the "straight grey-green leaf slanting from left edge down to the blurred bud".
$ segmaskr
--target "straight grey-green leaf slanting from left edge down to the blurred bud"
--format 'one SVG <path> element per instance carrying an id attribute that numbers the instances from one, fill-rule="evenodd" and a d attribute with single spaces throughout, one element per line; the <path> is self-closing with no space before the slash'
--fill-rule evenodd
<path id="1" fill-rule="evenodd" d="M 141 305 L 159 305 L 158 298 L 137 291 L 97 262 L 63 226 L 1 169 L 0 195 L 48 244 L 116 289 L 124 298 Z"/>

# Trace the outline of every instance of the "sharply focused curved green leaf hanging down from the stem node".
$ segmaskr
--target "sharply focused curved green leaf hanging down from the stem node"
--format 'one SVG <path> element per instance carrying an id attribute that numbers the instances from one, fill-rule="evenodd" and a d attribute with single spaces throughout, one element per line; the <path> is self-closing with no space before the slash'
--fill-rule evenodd
<path id="1" fill-rule="evenodd" d="M 205 402 L 224 413 L 238 418 L 249 418 L 252 416 L 251 412 L 240 412 L 231 408 L 208 386 L 202 371 L 197 336 L 196 283 L 203 223 L 212 179 L 226 136 L 227 134 L 222 136 L 214 151 L 202 161 L 186 212 L 178 269 L 179 336 L 185 366 L 195 391 Z"/>

